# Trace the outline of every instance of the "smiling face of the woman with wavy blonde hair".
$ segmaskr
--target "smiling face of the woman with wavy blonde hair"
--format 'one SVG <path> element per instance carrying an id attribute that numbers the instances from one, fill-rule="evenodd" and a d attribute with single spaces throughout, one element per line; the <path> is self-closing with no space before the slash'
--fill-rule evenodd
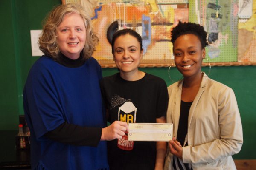
<path id="1" fill-rule="evenodd" d="M 70 13 L 57 27 L 57 43 L 62 54 L 70 59 L 78 59 L 84 49 L 86 28 L 79 14 Z"/>

